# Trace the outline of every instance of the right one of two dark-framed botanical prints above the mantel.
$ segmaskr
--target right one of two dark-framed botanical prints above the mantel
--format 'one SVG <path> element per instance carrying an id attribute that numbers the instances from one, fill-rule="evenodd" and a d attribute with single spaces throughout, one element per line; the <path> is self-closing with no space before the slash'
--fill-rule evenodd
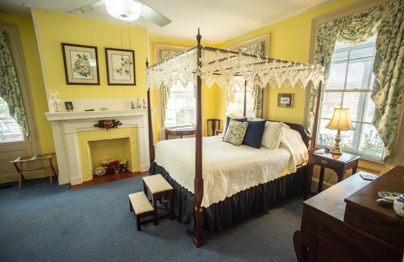
<path id="1" fill-rule="evenodd" d="M 136 86 L 135 51 L 105 48 L 108 85 Z"/>

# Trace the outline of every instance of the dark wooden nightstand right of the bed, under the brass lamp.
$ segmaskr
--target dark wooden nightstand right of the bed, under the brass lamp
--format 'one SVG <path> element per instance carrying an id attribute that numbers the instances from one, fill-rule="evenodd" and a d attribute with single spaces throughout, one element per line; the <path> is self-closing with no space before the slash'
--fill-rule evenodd
<path id="1" fill-rule="evenodd" d="M 342 153 L 342 155 L 334 155 L 328 152 L 325 152 L 324 149 L 319 150 L 323 152 L 323 154 L 316 154 L 314 150 L 309 152 L 309 163 L 307 165 L 307 175 L 305 182 L 305 198 L 307 200 L 307 196 L 311 191 L 312 186 L 312 178 L 313 178 L 313 167 L 315 165 L 319 165 L 320 169 L 320 178 L 319 178 L 319 187 L 318 193 L 323 191 L 323 182 L 324 182 L 324 170 L 325 168 L 329 168 L 334 170 L 334 172 L 338 176 L 338 182 L 344 179 L 345 171 L 349 169 L 353 169 L 352 174 L 357 172 L 358 161 L 361 157 L 356 155 L 351 155 L 348 153 Z"/>

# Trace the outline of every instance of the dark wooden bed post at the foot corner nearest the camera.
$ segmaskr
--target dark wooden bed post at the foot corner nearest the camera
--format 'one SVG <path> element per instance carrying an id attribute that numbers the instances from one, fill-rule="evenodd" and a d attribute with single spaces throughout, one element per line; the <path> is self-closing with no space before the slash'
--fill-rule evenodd
<path id="1" fill-rule="evenodd" d="M 196 36 L 198 42 L 197 45 L 197 71 L 201 67 L 201 51 L 200 45 L 201 35 Z M 204 178 L 202 176 L 202 99 L 201 89 L 202 82 L 200 77 L 197 76 L 196 84 L 196 143 L 195 143 L 195 180 L 194 180 L 194 219 L 195 219 L 195 234 L 193 238 L 193 244 L 196 247 L 203 246 L 204 241 L 204 208 L 201 207 L 202 198 L 204 195 Z"/>

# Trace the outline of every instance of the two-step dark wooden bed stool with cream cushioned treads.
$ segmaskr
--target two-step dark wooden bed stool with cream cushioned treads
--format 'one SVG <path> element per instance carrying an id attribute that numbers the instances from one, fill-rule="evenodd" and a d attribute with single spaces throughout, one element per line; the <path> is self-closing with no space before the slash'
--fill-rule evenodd
<path id="1" fill-rule="evenodd" d="M 129 209 L 133 211 L 136 218 L 137 230 L 141 229 L 141 225 L 153 221 L 157 226 L 159 220 L 163 218 L 169 217 L 170 220 L 174 220 L 174 189 L 161 174 L 143 177 L 143 190 L 143 192 L 129 194 Z M 151 195 L 151 200 L 147 198 L 148 192 Z M 169 198 L 169 206 L 163 201 L 163 197 Z M 157 201 L 163 204 L 170 213 L 159 216 L 157 212 Z M 143 221 L 140 220 L 148 216 L 153 216 L 153 218 Z"/>

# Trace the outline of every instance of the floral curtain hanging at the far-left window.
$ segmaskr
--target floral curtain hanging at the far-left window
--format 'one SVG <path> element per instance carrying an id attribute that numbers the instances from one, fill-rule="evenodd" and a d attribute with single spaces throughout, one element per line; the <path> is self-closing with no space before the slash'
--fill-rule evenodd
<path id="1" fill-rule="evenodd" d="M 31 141 L 14 62 L 6 34 L 2 30 L 0 30 L 0 96 L 7 102 L 9 114 L 24 128 L 26 137 Z"/>

